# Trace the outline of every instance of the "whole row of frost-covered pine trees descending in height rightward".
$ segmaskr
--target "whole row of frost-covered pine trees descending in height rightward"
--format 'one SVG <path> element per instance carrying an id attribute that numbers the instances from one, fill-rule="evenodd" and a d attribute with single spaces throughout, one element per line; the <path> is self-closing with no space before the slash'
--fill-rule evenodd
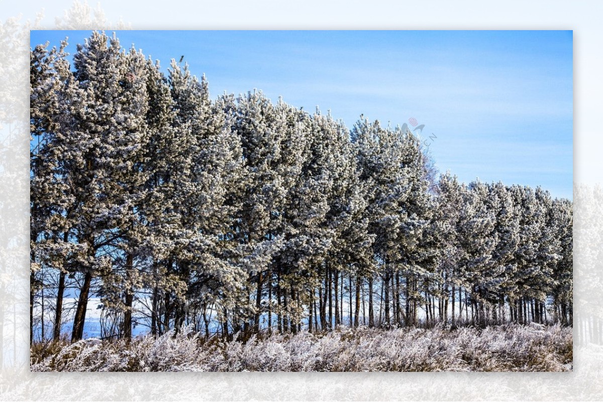
<path id="1" fill-rule="evenodd" d="M 31 51 L 31 340 L 572 320 L 572 203 L 435 177 L 406 128 L 350 130 L 93 32 Z M 40 309 L 41 308 L 41 309 Z M 46 318 L 45 318 L 45 317 Z M 50 317 L 49 317 L 50 316 Z"/>

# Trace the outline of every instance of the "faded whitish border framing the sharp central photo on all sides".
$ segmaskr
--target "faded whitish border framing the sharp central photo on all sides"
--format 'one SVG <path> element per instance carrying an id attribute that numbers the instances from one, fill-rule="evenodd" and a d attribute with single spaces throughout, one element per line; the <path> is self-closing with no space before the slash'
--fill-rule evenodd
<path id="1" fill-rule="evenodd" d="M 603 170 L 600 125 L 603 67 L 597 16 L 603 6 L 568 8 L 505 2 L 493 12 L 478 2 L 398 8 L 381 2 L 295 5 L 267 10 L 237 1 L 142 4 L 106 1 L 2 2 L 0 11 L 0 395 L 2 400 L 600 400 L 603 398 Z M 191 2 L 192 3 L 192 2 Z M 266 2 L 266 5 L 269 5 Z M 43 10 L 46 7 L 46 10 Z M 492 6 L 495 7 L 495 6 Z M 471 13 L 463 10 L 473 10 Z M 521 12 L 519 12 L 521 10 Z M 394 12 L 396 11 L 396 12 Z M 338 18 L 333 21 L 333 16 Z M 455 16 L 454 23 L 450 16 Z M 538 23 L 535 23 L 535 19 Z M 126 22 L 123 22 L 125 20 Z M 513 21 L 512 25 L 508 21 Z M 192 373 L 152 376 L 30 373 L 28 333 L 28 52 L 30 29 L 575 29 L 574 366 L 571 374 Z M 135 374 L 134 374 L 135 375 Z"/>

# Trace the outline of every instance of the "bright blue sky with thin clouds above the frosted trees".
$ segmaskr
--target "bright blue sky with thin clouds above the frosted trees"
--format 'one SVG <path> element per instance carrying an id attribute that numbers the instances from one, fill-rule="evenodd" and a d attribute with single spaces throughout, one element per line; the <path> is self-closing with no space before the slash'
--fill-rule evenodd
<path id="1" fill-rule="evenodd" d="M 110 32 L 108 32 L 110 33 Z M 31 31 L 69 51 L 90 31 Z M 414 118 L 441 172 L 572 197 L 572 31 L 118 31 L 211 93 L 257 88 L 348 127 Z M 429 138 L 431 137 L 431 139 Z"/>

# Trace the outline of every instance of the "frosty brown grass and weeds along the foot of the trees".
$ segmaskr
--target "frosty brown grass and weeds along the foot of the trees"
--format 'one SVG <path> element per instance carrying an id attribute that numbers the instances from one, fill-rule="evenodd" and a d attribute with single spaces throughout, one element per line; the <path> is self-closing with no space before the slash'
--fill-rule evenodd
<path id="1" fill-rule="evenodd" d="M 130 345 L 91 338 L 31 349 L 31 371 L 572 371 L 572 360 L 572 328 L 538 324 L 342 328 L 246 342 L 183 330 Z"/>

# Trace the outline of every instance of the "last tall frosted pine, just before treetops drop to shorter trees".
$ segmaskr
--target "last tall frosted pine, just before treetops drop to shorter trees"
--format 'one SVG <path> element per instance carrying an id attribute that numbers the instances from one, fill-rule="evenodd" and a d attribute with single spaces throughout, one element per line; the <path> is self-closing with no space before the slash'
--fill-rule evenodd
<path id="1" fill-rule="evenodd" d="M 370 189 L 368 232 L 375 237 L 374 259 L 383 281 L 385 326 L 392 324 L 393 316 L 400 317 L 399 273 L 406 276 L 406 320 L 415 323 L 418 281 L 428 277 L 435 264 L 435 243 L 429 230 L 434 204 L 428 193 L 424 155 L 414 135 L 399 128 L 381 128 L 379 122 L 359 121 L 352 130 L 352 141 L 358 149 L 361 181 Z M 425 241 L 419 246 L 421 237 Z M 421 267 L 419 261 L 431 268 Z M 393 314 L 390 300 L 394 301 Z"/>

